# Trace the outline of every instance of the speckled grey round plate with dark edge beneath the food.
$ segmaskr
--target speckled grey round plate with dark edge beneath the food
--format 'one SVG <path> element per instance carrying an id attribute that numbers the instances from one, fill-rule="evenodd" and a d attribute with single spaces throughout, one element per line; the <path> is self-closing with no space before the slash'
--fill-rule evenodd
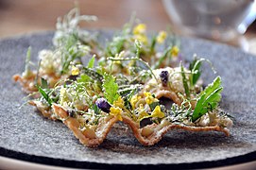
<path id="1" fill-rule="evenodd" d="M 106 37 L 110 33 L 103 32 Z M 88 148 L 60 122 L 21 105 L 25 93 L 11 76 L 22 73 L 26 50 L 32 58 L 51 48 L 52 32 L 0 41 L 0 155 L 23 161 L 78 168 L 203 168 L 256 160 L 256 57 L 202 40 L 181 38 L 181 55 L 211 59 L 222 76 L 221 107 L 235 117 L 230 137 L 221 132 L 169 131 L 154 146 L 143 146 L 128 127 L 114 127 L 103 144 Z M 203 69 L 205 83 L 213 81 Z"/>

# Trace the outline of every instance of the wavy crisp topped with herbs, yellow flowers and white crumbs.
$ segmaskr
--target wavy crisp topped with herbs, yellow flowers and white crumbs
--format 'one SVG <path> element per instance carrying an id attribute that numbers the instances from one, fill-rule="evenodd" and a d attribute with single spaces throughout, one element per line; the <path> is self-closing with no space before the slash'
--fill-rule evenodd
<path id="1" fill-rule="evenodd" d="M 78 27 L 95 20 L 74 8 L 58 20 L 54 46 L 40 51 L 38 64 L 31 63 L 28 48 L 25 71 L 13 79 L 30 105 L 62 121 L 90 147 L 101 144 L 117 122 L 144 145 L 158 143 L 174 128 L 230 135 L 230 115 L 218 105 L 221 77 L 205 88 L 200 78 L 203 62 L 213 69 L 209 60 L 182 60 L 175 35 L 148 36 L 135 17 L 102 44 L 99 32 Z"/>

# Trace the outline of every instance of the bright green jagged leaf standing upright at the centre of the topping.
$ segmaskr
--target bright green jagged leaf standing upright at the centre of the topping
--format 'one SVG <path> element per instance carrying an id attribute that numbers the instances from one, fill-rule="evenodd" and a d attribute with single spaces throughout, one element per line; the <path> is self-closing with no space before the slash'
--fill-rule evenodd
<path id="1" fill-rule="evenodd" d="M 115 82 L 115 78 L 111 75 L 105 74 L 102 86 L 104 88 L 105 98 L 108 102 L 113 104 L 113 102 L 119 97 L 118 84 Z"/>

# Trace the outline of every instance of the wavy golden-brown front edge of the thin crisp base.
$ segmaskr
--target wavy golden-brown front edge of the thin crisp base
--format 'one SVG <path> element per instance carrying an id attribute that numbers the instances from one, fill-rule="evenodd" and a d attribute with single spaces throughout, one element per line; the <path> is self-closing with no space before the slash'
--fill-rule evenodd
<path id="1" fill-rule="evenodd" d="M 99 124 L 95 129 L 81 130 L 80 124 L 76 118 L 70 117 L 67 110 L 64 110 L 60 105 L 53 105 L 53 111 L 62 122 L 69 127 L 81 144 L 88 147 L 95 147 L 103 143 L 106 139 L 111 127 L 118 121 L 115 116 L 103 117 L 99 120 Z M 140 127 L 140 124 L 133 121 L 126 115 L 122 115 L 123 122 L 131 128 L 137 140 L 144 145 L 154 145 L 162 140 L 163 135 L 175 128 L 180 128 L 188 131 L 222 131 L 227 136 L 230 136 L 230 131 L 226 127 L 215 125 L 213 127 L 194 127 L 184 124 L 174 124 L 166 119 L 163 119 L 160 124 L 151 124 L 145 127 Z"/>

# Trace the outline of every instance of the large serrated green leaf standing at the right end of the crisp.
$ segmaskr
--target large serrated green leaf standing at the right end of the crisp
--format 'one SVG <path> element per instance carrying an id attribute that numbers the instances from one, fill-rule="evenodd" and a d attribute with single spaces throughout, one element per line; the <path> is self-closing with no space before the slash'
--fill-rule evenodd
<path id="1" fill-rule="evenodd" d="M 193 122 L 195 122 L 209 110 L 213 110 L 217 107 L 218 102 L 221 99 L 222 90 L 223 87 L 221 86 L 221 78 L 220 76 L 217 76 L 213 80 L 213 83 L 209 84 L 204 91 L 199 93 L 196 108 L 192 114 Z"/>

